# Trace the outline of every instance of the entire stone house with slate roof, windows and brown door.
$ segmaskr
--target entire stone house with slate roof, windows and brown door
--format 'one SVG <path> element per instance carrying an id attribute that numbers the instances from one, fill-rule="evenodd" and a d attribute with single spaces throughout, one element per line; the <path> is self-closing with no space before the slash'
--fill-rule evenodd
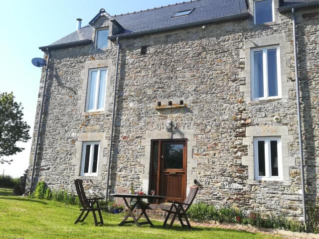
<path id="1" fill-rule="evenodd" d="M 90 194 L 105 195 L 110 168 L 108 193 L 133 182 L 183 200 L 196 183 L 197 201 L 300 218 L 293 7 L 306 191 L 314 200 L 315 0 L 193 0 L 113 16 L 101 9 L 89 25 L 40 47 L 49 59 L 34 181 L 74 192 L 80 178 Z M 35 126 L 44 78 L 45 67 Z"/>

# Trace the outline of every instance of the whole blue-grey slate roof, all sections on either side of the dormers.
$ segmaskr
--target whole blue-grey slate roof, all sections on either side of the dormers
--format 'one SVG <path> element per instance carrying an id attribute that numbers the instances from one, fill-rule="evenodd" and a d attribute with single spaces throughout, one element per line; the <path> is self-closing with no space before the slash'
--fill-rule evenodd
<path id="1" fill-rule="evenodd" d="M 247 16 L 246 2 L 246 0 L 192 0 L 112 17 L 124 28 L 124 31 L 119 34 L 144 33 L 157 29 L 178 28 L 187 24 L 200 24 L 210 20 L 222 20 L 231 16 Z M 280 7 L 307 2 L 318 2 L 318 0 L 284 0 Z M 189 15 L 171 18 L 177 11 L 192 8 L 194 10 Z M 40 49 L 66 47 L 71 43 L 72 45 L 88 44 L 92 40 L 92 32 L 93 27 L 86 25 L 49 46 L 40 47 Z"/>

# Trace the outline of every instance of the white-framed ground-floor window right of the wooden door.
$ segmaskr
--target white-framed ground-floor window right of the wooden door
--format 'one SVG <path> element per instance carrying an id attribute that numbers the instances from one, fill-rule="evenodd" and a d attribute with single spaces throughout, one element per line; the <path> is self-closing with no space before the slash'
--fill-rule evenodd
<path id="1" fill-rule="evenodd" d="M 254 137 L 256 180 L 283 180 L 281 137 Z"/>

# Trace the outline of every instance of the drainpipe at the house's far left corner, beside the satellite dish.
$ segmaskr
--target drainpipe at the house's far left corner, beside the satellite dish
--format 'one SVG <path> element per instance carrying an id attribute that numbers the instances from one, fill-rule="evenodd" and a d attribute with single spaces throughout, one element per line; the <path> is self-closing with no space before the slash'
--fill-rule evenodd
<path id="1" fill-rule="evenodd" d="M 33 167 L 32 167 L 32 176 L 31 176 L 31 185 L 30 185 L 30 192 L 33 192 L 33 177 L 34 177 L 34 170 L 35 170 L 35 164 L 36 164 L 36 156 L 38 151 L 38 145 L 39 145 L 39 136 L 40 136 L 40 127 L 41 127 L 41 120 L 42 120 L 42 109 L 43 109 L 43 103 L 44 103 L 44 94 L 45 94 L 45 87 L 46 87 L 46 80 L 48 77 L 48 69 L 49 69 L 49 60 L 50 60 L 50 52 L 49 48 L 46 48 L 47 52 L 47 60 L 46 60 L 46 66 L 45 66 L 45 75 L 44 75 L 44 85 L 43 85 L 43 91 L 42 91 L 42 100 L 41 100 L 41 106 L 40 106 L 40 115 L 39 115 L 39 122 L 38 122 L 38 129 L 35 139 L 35 149 L 34 149 L 34 156 L 33 156 Z"/>

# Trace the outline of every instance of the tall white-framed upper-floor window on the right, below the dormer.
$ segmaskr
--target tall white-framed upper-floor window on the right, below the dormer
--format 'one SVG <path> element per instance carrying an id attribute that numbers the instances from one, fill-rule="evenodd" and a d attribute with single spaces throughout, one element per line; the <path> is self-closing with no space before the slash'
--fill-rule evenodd
<path id="1" fill-rule="evenodd" d="M 252 100 L 281 98 L 279 46 L 251 50 Z"/>

